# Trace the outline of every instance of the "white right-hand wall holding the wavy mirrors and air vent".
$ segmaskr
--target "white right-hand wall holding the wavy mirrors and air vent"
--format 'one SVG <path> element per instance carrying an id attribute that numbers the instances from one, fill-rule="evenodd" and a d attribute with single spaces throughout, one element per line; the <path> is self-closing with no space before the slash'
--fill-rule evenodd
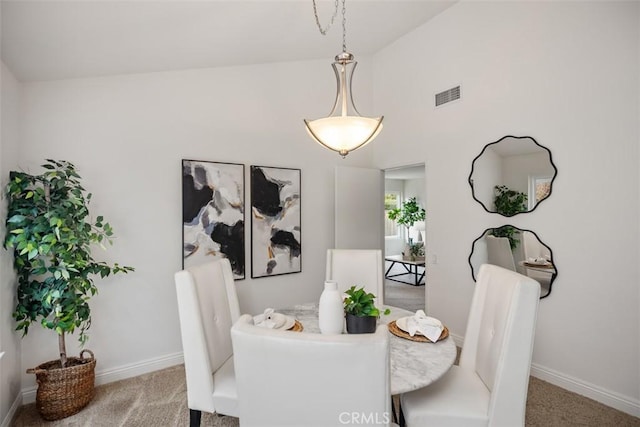
<path id="1" fill-rule="evenodd" d="M 636 416 L 639 8 L 462 2 L 374 57 L 375 164 L 426 163 L 428 312 L 464 335 L 471 243 L 506 223 L 534 230 L 559 274 L 540 304 L 533 373 Z M 435 109 L 456 84 L 462 99 Z M 510 219 L 485 212 L 467 183 L 504 135 L 534 137 L 558 167 L 549 200 Z"/>

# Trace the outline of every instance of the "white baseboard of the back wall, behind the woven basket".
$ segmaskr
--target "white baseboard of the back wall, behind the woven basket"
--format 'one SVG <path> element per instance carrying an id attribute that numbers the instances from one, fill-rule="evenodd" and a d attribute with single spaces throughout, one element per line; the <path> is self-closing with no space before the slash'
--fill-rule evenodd
<path id="1" fill-rule="evenodd" d="M 147 374 L 149 372 L 159 371 L 160 369 L 169 368 L 171 366 L 184 363 L 182 353 L 168 354 L 166 356 L 156 357 L 153 359 L 143 360 L 141 362 L 124 365 L 105 371 L 96 372 L 96 385 L 109 384 L 114 381 L 120 381 L 127 378 L 137 377 L 138 375 Z M 37 386 L 22 389 L 23 404 L 33 403 L 36 401 Z M 4 427 L 4 425 L 2 426 Z"/>

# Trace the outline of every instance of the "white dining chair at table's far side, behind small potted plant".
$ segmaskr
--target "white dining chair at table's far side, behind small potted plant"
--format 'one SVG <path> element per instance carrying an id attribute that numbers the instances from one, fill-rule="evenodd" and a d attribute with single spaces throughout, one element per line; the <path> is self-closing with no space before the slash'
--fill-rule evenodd
<path id="1" fill-rule="evenodd" d="M 325 280 L 338 283 L 344 293 L 351 286 L 364 287 L 384 304 L 384 271 L 379 249 L 328 249 Z"/>

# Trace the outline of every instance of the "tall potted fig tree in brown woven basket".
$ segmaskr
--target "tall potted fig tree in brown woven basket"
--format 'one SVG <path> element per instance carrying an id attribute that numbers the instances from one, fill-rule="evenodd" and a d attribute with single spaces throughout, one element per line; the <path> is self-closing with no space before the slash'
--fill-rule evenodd
<path id="1" fill-rule="evenodd" d="M 88 339 L 94 278 L 133 268 L 94 260 L 94 245 L 111 244 L 113 230 L 102 216 L 89 216 L 91 193 L 74 165 L 47 159 L 42 167 L 40 175 L 10 173 L 4 247 L 14 254 L 16 329 L 24 336 L 37 322 L 58 335 L 60 358 L 27 371 L 36 374 L 40 415 L 55 420 L 79 412 L 94 395 L 93 353 L 68 357 L 65 343 L 76 329 L 81 346 Z"/>

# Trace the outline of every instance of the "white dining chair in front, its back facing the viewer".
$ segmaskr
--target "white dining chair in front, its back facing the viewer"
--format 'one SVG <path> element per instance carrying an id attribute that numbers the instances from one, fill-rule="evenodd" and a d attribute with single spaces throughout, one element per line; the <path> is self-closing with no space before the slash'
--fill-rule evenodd
<path id="1" fill-rule="evenodd" d="M 391 425 L 389 333 L 231 329 L 242 427 Z"/>

